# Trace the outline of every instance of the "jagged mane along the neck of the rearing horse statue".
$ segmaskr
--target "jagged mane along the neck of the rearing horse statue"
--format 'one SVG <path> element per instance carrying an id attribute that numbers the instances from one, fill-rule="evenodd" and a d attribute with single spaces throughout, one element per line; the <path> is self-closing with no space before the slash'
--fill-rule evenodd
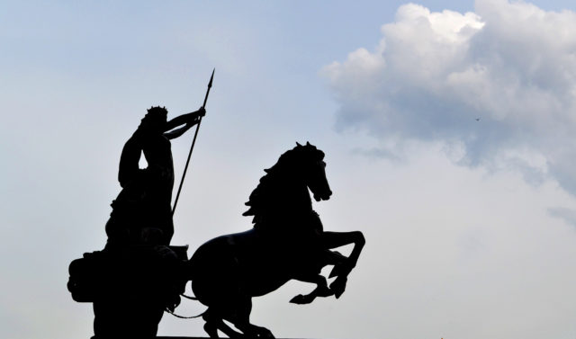
<path id="1" fill-rule="evenodd" d="M 278 161 L 270 168 L 264 170 L 266 174 L 260 178 L 257 187 L 250 193 L 248 201 L 245 203 L 249 207 L 247 211 L 242 213 L 243 216 L 254 216 L 252 223 L 256 224 L 270 207 L 270 195 L 275 192 L 279 180 L 282 180 L 283 174 L 288 170 L 293 170 L 294 159 L 299 156 L 313 156 L 319 159 L 324 157 L 324 152 L 320 149 L 306 143 L 302 146 L 296 143 L 296 147 L 289 149 L 282 154 Z"/>

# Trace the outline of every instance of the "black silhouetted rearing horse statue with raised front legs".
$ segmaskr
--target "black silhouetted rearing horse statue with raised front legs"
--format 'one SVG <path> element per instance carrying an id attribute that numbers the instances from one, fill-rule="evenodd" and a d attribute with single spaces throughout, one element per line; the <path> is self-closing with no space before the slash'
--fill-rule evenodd
<path id="1" fill-rule="evenodd" d="M 251 299 L 292 279 L 317 285 L 310 294 L 294 297 L 294 303 L 339 298 L 344 292 L 365 238 L 359 231 L 324 231 L 312 210 L 309 189 L 316 201 L 326 201 L 332 194 L 323 158 L 324 153 L 310 143 L 285 152 L 250 194 L 244 215 L 254 216 L 254 228 L 214 238 L 193 254 L 187 278 L 195 297 L 208 306 L 202 317 L 212 338 L 218 337 L 218 330 L 229 337 L 273 338 L 266 328 L 250 324 Z M 354 244 L 348 257 L 330 251 L 347 244 Z M 320 275 L 326 265 L 334 265 L 329 276 L 336 277 L 329 286 Z"/>

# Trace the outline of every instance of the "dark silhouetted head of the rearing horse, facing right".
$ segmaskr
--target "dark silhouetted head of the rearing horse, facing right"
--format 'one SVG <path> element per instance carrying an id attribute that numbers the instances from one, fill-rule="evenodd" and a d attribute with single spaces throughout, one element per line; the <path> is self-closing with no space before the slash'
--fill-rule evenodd
<path id="1" fill-rule="evenodd" d="M 302 176 L 306 185 L 314 195 L 315 201 L 327 201 L 332 195 L 330 185 L 326 178 L 326 163 L 324 162 L 324 152 L 310 142 L 305 146 L 296 143 L 294 148 L 302 156 Z"/>

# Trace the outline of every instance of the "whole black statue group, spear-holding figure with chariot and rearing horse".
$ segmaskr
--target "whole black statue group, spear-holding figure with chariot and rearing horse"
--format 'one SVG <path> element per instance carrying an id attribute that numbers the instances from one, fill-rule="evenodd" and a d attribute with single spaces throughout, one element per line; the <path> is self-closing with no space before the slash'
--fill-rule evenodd
<path id="1" fill-rule="evenodd" d="M 122 189 L 112 201 L 103 251 L 70 263 L 67 287 L 76 301 L 94 303 L 95 339 L 155 337 L 163 312 L 173 313 L 186 281 L 192 281 L 194 299 L 208 307 L 202 317 L 211 338 L 217 338 L 219 330 L 229 337 L 274 338 L 265 327 L 250 324 L 251 300 L 292 279 L 316 284 L 311 293 L 290 300 L 296 304 L 317 297 L 338 299 L 346 289 L 365 238 L 360 231 L 324 230 L 312 209 L 310 192 L 316 201 L 329 200 L 332 192 L 324 153 L 310 143 L 297 143 L 265 170 L 246 203 L 249 209 L 244 215 L 253 216 L 252 229 L 211 239 L 190 260 L 187 246 L 170 246 L 174 234 L 170 140 L 200 126 L 213 76 L 214 71 L 200 110 L 169 121 L 166 108 L 148 110 L 122 149 L 118 174 Z M 198 128 L 185 168 L 197 132 Z M 142 154 L 148 166 L 140 169 Z M 348 244 L 354 244 L 348 257 L 332 251 Z M 327 265 L 334 266 L 330 284 L 320 274 Z"/>

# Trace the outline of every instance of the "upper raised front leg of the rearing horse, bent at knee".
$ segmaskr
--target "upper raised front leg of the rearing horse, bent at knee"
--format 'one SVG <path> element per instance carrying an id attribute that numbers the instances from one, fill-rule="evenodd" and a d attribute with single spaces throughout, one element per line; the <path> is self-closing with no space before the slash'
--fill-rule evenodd
<path id="1" fill-rule="evenodd" d="M 366 241 L 365 237 L 360 231 L 354 232 L 323 232 L 322 243 L 325 248 L 336 248 L 343 245 L 354 244 L 352 253 L 348 256 L 347 260 L 336 263 L 329 277 L 338 277 L 330 284 L 330 290 L 334 291 L 336 298 L 340 298 L 344 290 L 346 290 L 347 276 L 356 267 L 362 248 Z"/>

